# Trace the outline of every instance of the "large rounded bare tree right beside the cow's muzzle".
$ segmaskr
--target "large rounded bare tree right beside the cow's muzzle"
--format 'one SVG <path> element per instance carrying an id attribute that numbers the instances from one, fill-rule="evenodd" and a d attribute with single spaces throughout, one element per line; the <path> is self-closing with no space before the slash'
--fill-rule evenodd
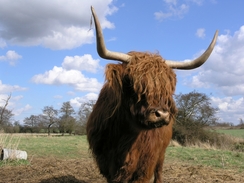
<path id="1" fill-rule="evenodd" d="M 196 91 L 175 96 L 178 113 L 173 138 L 181 143 L 205 141 L 205 127 L 217 122 L 217 108 L 211 106 L 210 98 Z"/>

